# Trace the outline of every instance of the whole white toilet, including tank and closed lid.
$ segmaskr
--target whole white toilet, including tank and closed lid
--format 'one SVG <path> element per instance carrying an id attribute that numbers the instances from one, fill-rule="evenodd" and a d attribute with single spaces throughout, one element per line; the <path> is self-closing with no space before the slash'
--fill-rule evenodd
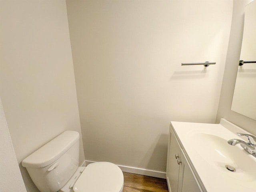
<path id="1" fill-rule="evenodd" d="M 79 133 L 65 131 L 22 161 L 40 192 L 122 192 L 122 170 L 110 162 L 79 167 Z"/>

